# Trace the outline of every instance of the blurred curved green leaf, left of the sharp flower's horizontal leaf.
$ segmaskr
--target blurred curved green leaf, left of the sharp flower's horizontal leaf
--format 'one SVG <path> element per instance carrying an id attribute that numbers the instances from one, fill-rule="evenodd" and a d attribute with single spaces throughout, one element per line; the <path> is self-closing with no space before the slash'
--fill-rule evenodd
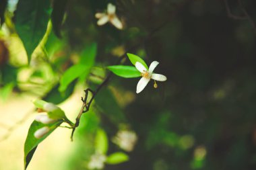
<path id="1" fill-rule="evenodd" d="M 69 67 L 61 77 L 59 91 L 65 91 L 72 81 L 77 79 L 80 75 L 88 73 L 89 70 L 90 68 L 84 65 L 73 65 Z"/>

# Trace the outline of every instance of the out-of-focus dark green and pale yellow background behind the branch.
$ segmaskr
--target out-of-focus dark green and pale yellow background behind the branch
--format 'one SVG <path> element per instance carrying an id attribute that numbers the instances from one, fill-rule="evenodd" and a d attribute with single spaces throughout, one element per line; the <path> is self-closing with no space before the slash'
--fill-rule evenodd
<path id="1" fill-rule="evenodd" d="M 96 89 L 125 52 L 148 65 L 160 62 L 155 72 L 167 81 L 157 89 L 150 81 L 137 94 L 139 79 L 114 75 L 82 116 L 73 142 L 71 130 L 57 128 L 28 169 L 256 169 L 256 1 L 67 0 L 61 31 L 49 22 L 29 64 L 15 30 L 18 0 L 6 2 L 6 8 L 0 3 L 0 169 L 24 167 L 33 99 L 58 104 L 74 122 L 83 90 Z M 94 15 L 108 3 L 117 7 L 122 30 L 97 25 Z M 62 75 L 92 44 L 90 73 L 60 92 Z M 97 155 L 98 143 L 106 154 Z M 106 163 L 113 153 L 126 159 Z"/>

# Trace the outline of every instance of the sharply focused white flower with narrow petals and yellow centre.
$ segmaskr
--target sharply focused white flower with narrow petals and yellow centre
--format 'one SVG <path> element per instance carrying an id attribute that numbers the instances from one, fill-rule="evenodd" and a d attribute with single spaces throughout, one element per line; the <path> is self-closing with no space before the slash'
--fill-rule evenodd
<path id="1" fill-rule="evenodd" d="M 140 62 L 135 63 L 136 69 L 141 73 L 142 78 L 139 80 L 139 83 L 137 84 L 137 90 L 136 93 L 141 92 L 146 85 L 148 85 L 148 82 L 150 82 L 150 79 L 154 79 L 154 87 L 157 87 L 156 81 L 166 81 L 166 77 L 164 75 L 153 73 L 156 66 L 159 64 L 157 61 L 153 61 L 150 65 L 150 69 L 146 69 Z"/>

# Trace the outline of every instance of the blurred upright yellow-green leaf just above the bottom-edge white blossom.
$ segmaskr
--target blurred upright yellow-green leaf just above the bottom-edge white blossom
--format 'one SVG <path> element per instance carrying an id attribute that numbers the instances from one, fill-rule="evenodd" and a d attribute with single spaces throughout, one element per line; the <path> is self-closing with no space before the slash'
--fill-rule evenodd
<path id="1" fill-rule="evenodd" d="M 106 132 L 104 132 L 104 130 L 102 129 L 97 130 L 95 142 L 96 142 L 96 145 L 95 145 L 96 151 L 105 155 L 106 152 L 108 151 L 108 136 L 106 135 Z"/>

